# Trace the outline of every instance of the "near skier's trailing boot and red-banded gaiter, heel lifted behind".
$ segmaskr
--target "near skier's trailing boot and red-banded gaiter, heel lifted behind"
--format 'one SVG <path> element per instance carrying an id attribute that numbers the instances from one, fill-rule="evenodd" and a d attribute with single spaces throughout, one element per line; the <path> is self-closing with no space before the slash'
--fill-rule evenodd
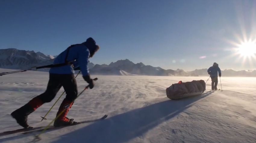
<path id="1" fill-rule="evenodd" d="M 27 116 L 34 112 L 38 107 L 40 107 L 43 104 L 43 102 L 35 97 L 32 100 L 30 100 L 27 104 L 20 107 L 19 109 L 15 110 L 11 113 L 11 116 L 16 119 L 17 123 L 24 127 L 29 128 L 29 125 L 27 124 Z"/>

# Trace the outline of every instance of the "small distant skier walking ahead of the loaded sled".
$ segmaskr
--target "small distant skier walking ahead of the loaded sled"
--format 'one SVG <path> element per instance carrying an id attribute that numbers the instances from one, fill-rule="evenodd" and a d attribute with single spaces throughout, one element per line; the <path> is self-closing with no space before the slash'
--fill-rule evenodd
<path id="1" fill-rule="evenodd" d="M 221 77 L 221 71 L 219 68 L 219 65 L 217 63 L 213 63 L 213 66 L 211 66 L 207 70 L 208 74 L 210 74 L 211 77 L 211 90 L 217 90 L 217 84 L 218 84 L 218 72 L 219 76 Z"/>

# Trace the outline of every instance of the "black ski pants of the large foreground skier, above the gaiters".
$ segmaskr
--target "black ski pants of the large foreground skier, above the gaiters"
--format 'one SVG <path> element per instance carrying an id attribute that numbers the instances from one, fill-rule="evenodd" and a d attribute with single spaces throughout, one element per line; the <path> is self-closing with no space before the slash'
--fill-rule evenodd
<path id="1" fill-rule="evenodd" d="M 46 91 L 37 97 L 43 103 L 51 102 L 61 86 L 66 92 L 66 99 L 74 101 L 77 97 L 77 84 L 74 74 L 50 74 Z"/>

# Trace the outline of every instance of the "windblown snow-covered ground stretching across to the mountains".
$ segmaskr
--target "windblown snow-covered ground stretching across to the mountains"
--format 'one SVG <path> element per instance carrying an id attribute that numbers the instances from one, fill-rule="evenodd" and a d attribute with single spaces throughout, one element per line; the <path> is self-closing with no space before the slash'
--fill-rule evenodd
<path id="1" fill-rule="evenodd" d="M 0 69 L 0 72 L 8 70 Z M 94 89 L 86 90 L 75 101 L 68 117 L 83 121 L 108 114 L 108 118 L 48 131 L 39 142 L 256 142 L 254 77 L 221 77 L 223 91 L 215 92 L 210 92 L 211 81 L 208 81 L 203 95 L 178 101 L 166 97 L 168 86 L 179 80 L 206 81 L 208 77 L 92 77 L 98 77 Z M 20 128 L 10 113 L 44 92 L 47 82 L 47 72 L 0 76 L 0 132 Z M 77 83 L 79 91 L 87 85 L 81 76 Z M 51 103 L 30 114 L 31 126 L 47 125 L 55 118 L 61 101 L 49 113 L 48 120 L 41 122 L 40 116 L 45 115 L 62 92 L 61 88 Z M 0 136 L 0 142 L 27 143 L 33 139 L 34 134 Z"/>

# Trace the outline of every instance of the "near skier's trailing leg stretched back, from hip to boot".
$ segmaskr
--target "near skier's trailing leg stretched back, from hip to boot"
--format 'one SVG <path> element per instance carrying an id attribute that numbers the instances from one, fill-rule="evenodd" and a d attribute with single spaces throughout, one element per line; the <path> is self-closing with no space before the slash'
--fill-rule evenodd
<path id="1" fill-rule="evenodd" d="M 46 91 L 30 100 L 24 106 L 12 112 L 11 116 L 16 119 L 20 126 L 28 128 L 29 125 L 27 124 L 27 116 L 34 112 L 42 104 L 52 101 L 60 88 L 61 83 L 58 80 L 58 75 L 50 74 Z"/>

